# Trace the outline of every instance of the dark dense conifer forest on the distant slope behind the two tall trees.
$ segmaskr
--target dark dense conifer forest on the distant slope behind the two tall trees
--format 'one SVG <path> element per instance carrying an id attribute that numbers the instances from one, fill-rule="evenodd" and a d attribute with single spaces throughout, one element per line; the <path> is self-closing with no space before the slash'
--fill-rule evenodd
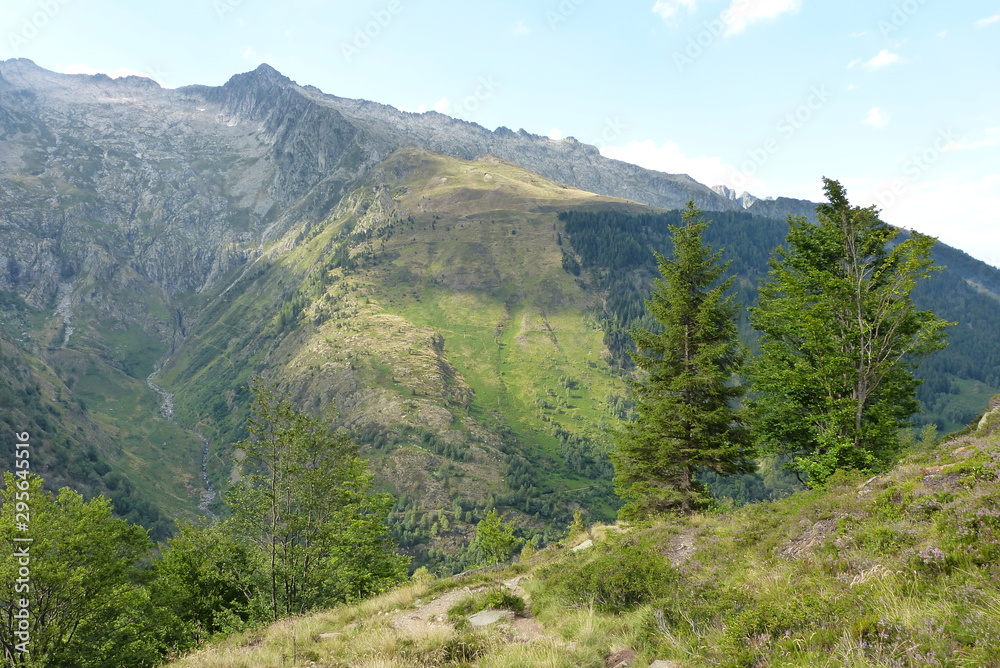
<path id="1" fill-rule="evenodd" d="M 680 224 L 681 214 L 577 210 L 559 217 L 578 256 L 568 257 L 565 264 L 569 271 L 586 270 L 594 288 L 604 295 L 605 341 L 616 361 L 627 366 L 628 330 L 651 324 L 645 300 L 656 275 L 652 251 L 670 252 L 667 226 Z M 738 298 L 746 306 L 754 305 L 757 285 L 768 273 L 767 260 L 784 241 L 787 224 L 743 212 L 706 212 L 705 217 L 713 221 L 705 241 L 732 261 Z M 945 268 L 918 285 L 914 302 L 957 325 L 949 330 L 950 345 L 917 370 L 925 379 L 918 422 L 953 431 L 981 413 L 989 397 L 1000 390 L 1000 271 L 941 244 L 933 256 Z M 756 334 L 745 311 L 740 331 L 753 349 Z"/>

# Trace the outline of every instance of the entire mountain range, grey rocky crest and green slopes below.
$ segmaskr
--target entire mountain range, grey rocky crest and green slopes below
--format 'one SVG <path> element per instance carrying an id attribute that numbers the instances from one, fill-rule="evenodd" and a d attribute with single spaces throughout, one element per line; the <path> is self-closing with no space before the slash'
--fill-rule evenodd
<path id="1" fill-rule="evenodd" d="M 414 554 L 445 563 L 493 506 L 544 542 L 577 508 L 613 516 L 622 333 L 689 200 L 747 301 L 783 219 L 815 215 L 267 65 L 171 90 L 8 60 L 3 419 L 42 436 L 51 484 L 165 535 L 216 508 L 262 375 L 364 445 Z M 1000 272 L 937 254 L 920 299 L 960 324 L 921 398 L 951 428 L 1000 391 Z"/>

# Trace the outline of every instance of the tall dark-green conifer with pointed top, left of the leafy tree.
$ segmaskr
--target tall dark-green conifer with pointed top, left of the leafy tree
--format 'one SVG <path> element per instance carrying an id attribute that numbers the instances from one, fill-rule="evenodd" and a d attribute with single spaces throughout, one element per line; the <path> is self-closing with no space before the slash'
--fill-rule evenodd
<path id="1" fill-rule="evenodd" d="M 708 223 L 689 202 L 683 225 L 670 226 L 673 252 L 656 254 L 661 278 L 646 301 L 659 331 L 631 334 L 641 379 L 634 386 L 638 417 L 613 455 L 623 519 L 688 513 L 707 500 L 699 469 L 726 475 L 752 470 L 748 438 L 733 408 L 743 394 L 732 382 L 743 363 L 728 263 L 702 242 Z"/>

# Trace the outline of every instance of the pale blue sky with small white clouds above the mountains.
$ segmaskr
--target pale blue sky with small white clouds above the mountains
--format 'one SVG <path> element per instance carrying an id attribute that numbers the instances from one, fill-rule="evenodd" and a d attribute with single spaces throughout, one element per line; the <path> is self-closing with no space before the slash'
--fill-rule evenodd
<path id="1" fill-rule="evenodd" d="M 760 196 L 855 204 L 1000 265 L 1000 0 L 4 0 L 0 59 L 301 84 Z"/>

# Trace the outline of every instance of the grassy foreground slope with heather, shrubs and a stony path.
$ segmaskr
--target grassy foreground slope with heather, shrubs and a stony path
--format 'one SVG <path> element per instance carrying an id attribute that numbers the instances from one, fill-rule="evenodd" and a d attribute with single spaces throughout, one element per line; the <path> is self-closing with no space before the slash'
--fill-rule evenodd
<path id="1" fill-rule="evenodd" d="M 995 397 L 964 435 L 886 475 L 651 526 L 592 527 L 504 571 L 286 620 L 170 665 L 1000 665 L 998 499 Z M 506 595 L 490 593 L 498 588 Z M 524 612 L 467 621 L 514 596 Z"/>

